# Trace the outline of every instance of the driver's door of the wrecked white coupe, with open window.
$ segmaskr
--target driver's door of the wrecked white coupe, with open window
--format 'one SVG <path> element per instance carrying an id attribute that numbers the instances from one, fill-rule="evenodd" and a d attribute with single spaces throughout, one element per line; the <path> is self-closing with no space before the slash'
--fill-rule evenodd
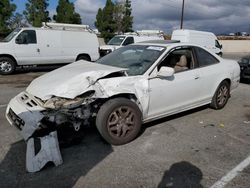
<path id="1" fill-rule="evenodd" d="M 167 66 L 178 71 L 177 64 L 181 56 L 186 56 L 187 69 L 176 72 L 172 77 L 155 77 L 149 80 L 148 118 L 180 112 L 201 103 L 200 70 L 196 68 L 192 48 L 174 50 L 166 58 Z"/>

